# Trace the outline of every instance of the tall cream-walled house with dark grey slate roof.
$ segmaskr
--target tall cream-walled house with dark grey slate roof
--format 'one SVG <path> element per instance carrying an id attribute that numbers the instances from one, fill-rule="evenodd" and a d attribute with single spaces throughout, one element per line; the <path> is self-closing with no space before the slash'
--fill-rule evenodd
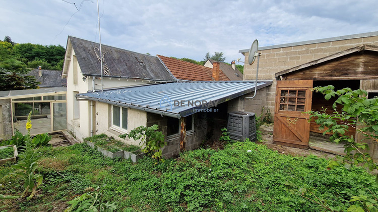
<path id="1" fill-rule="evenodd" d="M 157 57 L 69 36 L 62 77 L 67 79 L 67 127 L 78 140 L 96 134 L 96 105 L 75 95 L 106 88 L 175 82 Z M 107 112 L 106 112 L 107 113 Z M 120 112 L 121 113 L 121 112 Z M 138 111 L 130 111 L 129 116 Z M 97 122 L 101 122 L 97 120 Z M 107 120 L 106 120 L 107 122 Z"/>

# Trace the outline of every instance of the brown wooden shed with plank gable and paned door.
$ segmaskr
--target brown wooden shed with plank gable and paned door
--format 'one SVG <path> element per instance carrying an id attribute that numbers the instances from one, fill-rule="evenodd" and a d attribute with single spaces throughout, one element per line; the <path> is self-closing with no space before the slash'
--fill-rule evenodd
<path id="1" fill-rule="evenodd" d="M 273 140 L 276 144 L 307 148 L 310 135 L 319 135 L 319 126 L 308 123 L 309 110 L 327 108 L 332 113 L 336 98 L 325 100 L 311 92 L 317 86 L 333 85 L 368 91 L 368 98 L 378 94 L 378 46 L 361 45 L 275 74 L 277 79 Z M 310 134 L 311 132 L 311 134 Z M 362 139 L 349 129 L 357 141 Z M 366 142 L 366 141 L 364 141 Z M 378 144 L 371 143 L 368 152 L 378 158 Z"/>

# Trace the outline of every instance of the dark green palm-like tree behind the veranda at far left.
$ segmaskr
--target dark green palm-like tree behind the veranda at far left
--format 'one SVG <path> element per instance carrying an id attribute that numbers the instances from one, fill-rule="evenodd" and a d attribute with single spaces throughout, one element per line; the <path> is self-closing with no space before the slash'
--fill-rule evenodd
<path id="1" fill-rule="evenodd" d="M 40 82 L 34 76 L 27 76 L 31 69 L 15 59 L 0 63 L 0 90 L 25 90 L 38 88 Z"/>

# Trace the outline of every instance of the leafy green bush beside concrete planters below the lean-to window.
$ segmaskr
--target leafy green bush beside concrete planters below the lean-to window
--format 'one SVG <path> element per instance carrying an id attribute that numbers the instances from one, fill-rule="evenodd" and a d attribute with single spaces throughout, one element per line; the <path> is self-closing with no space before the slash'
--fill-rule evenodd
<path id="1" fill-rule="evenodd" d="M 167 142 L 164 141 L 164 135 L 161 131 L 158 131 L 158 125 L 154 124 L 151 127 L 144 127 L 139 126 L 130 133 L 125 133 L 123 135 L 119 135 L 120 138 L 133 138 L 134 140 L 141 140 L 139 144 L 144 145 L 145 147 L 142 149 L 143 152 L 152 155 L 152 158 L 157 160 L 156 163 L 159 161 L 164 162 L 163 158 L 161 158 L 161 148 L 167 145 Z"/>

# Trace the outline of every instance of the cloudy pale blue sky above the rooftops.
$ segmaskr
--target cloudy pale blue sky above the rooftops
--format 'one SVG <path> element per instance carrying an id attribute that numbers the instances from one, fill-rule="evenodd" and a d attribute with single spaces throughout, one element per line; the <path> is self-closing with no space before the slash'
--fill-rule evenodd
<path id="1" fill-rule="evenodd" d="M 75 5 L 73 4 L 75 3 Z M 62 45 L 99 42 L 97 0 L 0 0 L 0 39 Z M 226 62 L 250 47 L 378 31 L 374 0 L 99 0 L 101 43 L 151 55 Z M 79 10 L 80 9 L 80 10 Z M 240 65 L 243 65 L 240 63 Z"/>

